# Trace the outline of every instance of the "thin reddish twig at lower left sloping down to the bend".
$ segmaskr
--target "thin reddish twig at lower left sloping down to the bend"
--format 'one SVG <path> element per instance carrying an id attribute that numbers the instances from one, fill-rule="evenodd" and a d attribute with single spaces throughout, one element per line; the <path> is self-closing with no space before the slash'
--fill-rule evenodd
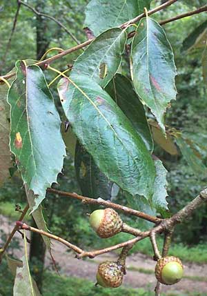
<path id="1" fill-rule="evenodd" d="M 21 229 L 24 229 L 24 230 L 30 230 L 33 233 L 39 233 L 39 235 L 45 235 L 46 237 L 50 237 L 50 239 L 55 239 L 56 241 L 59 241 L 61 244 L 64 244 L 64 245 L 68 246 L 68 248 L 71 248 L 76 253 L 80 254 L 80 253 L 83 252 L 83 250 L 81 250 L 81 248 L 75 246 L 74 244 L 70 244 L 69 241 L 66 241 L 65 239 L 62 239 L 61 237 L 57 237 L 57 235 L 52 235 L 51 233 L 46 233 L 46 231 L 43 231 L 41 229 L 34 228 L 32 226 L 28 226 L 26 223 L 23 223 L 21 221 L 17 221 L 16 226 L 17 226 L 17 229 L 21 228 Z"/>

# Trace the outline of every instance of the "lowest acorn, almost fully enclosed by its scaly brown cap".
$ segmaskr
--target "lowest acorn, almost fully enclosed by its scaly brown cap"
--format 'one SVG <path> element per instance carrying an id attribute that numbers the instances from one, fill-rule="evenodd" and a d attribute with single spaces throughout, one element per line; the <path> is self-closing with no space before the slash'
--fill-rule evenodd
<path id="1" fill-rule="evenodd" d="M 117 262 L 102 262 L 97 270 L 97 284 L 106 288 L 121 286 L 124 276 L 122 269 L 123 266 Z"/>

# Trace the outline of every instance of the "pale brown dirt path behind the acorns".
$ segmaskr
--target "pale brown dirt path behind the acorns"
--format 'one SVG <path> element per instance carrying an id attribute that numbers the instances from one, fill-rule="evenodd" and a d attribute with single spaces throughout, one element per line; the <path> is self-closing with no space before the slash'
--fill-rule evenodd
<path id="1" fill-rule="evenodd" d="M 6 217 L 0 215 L 0 230 L 6 233 L 10 233 L 14 224 L 10 224 Z M 20 240 L 20 244 L 23 244 L 21 235 L 16 233 L 15 237 Z M 1 238 L 0 238 L 1 243 Z M 95 259 L 81 259 L 75 258 L 75 254 L 67 252 L 68 248 L 59 244 L 57 241 L 53 241 L 53 255 L 55 257 L 58 266 L 60 266 L 59 273 L 61 275 L 81 277 L 84 279 L 90 279 L 95 281 L 95 275 L 99 262 L 103 262 L 106 259 L 115 260 L 117 255 L 115 253 L 108 253 L 95 257 Z M 21 248 L 15 252 L 17 258 L 21 258 L 24 250 Z M 156 280 L 155 275 L 152 272 L 155 268 L 155 262 L 137 253 L 128 257 L 126 266 L 128 268 L 127 274 L 124 277 L 124 286 L 130 286 L 131 288 L 155 288 Z M 51 266 L 50 255 L 47 254 L 46 266 Z M 201 295 L 207 295 L 207 264 L 192 264 L 184 262 L 184 275 L 188 277 L 184 278 L 178 284 L 172 286 L 163 286 L 162 290 L 165 292 L 186 293 L 187 295 L 195 295 L 195 293 L 202 293 Z M 189 278 L 191 277 L 191 278 Z M 199 277 L 199 280 L 196 279 Z"/>

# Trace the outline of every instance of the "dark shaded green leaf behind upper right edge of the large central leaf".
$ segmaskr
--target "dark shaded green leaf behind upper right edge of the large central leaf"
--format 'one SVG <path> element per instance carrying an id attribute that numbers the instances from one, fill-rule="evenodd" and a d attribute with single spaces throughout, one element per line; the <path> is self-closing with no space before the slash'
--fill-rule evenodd
<path id="1" fill-rule="evenodd" d="M 135 90 L 133 90 L 131 81 L 123 75 L 117 74 L 108 83 L 106 91 L 131 121 L 148 150 L 152 152 L 154 145 L 146 113 L 142 103 L 139 101 L 139 97 L 137 97 Z"/>

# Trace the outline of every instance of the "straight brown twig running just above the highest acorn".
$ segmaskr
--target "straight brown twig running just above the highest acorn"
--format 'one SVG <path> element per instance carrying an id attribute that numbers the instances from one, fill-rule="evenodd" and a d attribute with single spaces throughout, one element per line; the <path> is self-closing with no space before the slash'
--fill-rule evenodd
<path id="1" fill-rule="evenodd" d="M 77 195 L 77 193 L 67 193 L 65 191 L 60 191 L 57 189 L 53 189 L 53 188 L 48 188 L 48 193 L 55 193 L 57 195 L 61 195 L 61 196 L 67 196 L 67 197 L 72 197 L 75 199 L 79 199 L 82 201 L 83 204 L 97 204 L 100 206 L 106 206 L 109 208 L 114 208 L 115 210 L 121 210 L 122 212 L 124 212 L 125 214 L 129 214 L 129 215 L 133 215 L 136 217 L 139 217 L 141 219 L 145 219 L 147 221 L 150 221 L 152 223 L 159 223 L 162 221 L 162 219 L 157 218 L 157 217 L 153 217 L 150 216 L 148 214 L 139 212 L 139 210 L 134 210 L 132 208 L 128 208 L 126 206 L 121 206 L 120 204 L 115 204 L 111 201 L 106 201 L 104 199 L 98 198 L 98 199 L 92 199 L 90 197 L 83 197 L 82 195 Z"/>

